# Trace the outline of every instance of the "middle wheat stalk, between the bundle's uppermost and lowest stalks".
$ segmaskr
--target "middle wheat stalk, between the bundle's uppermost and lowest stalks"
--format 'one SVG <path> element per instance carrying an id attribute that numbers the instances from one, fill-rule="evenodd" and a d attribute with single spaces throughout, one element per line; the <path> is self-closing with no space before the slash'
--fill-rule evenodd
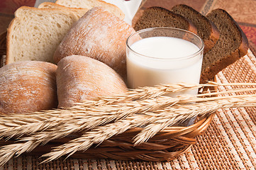
<path id="1" fill-rule="evenodd" d="M 37 147 L 40 144 L 45 145 L 50 140 L 55 140 L 61 137 L 65 137 L 69 134 L 72 134 L 74 132 L 78 132 L 84 129 L 90 129 L 94 128 L 91 127 L 91 122 L 94 122 L 94 126 L 104 124 L 101 123 L 101 121 L 105 121 L 104 118 L 108 118 L 108 120 L 113 120 L 113 118 L 116 118 L 116 115 L 121 116 L 122 118 L 126 118 L 129 115 L 133 115 L 135 113 L 148 113 L 150 111 L 156 111 L 157 109 L 162 112 L 163 109 L 167 109 L 169 107 L 174 107 L 174 105 L 177 103 L 184 104 L 184 103 L 192 103 L 192 102 L 201 102 L 201 101 L 215 101 L 220 99 L 226 99 L 230 98 L 228 97 L 218 97 L 218 98 L 196 98 L 194 96 L 179 96 L 177 98 L 169 98 L 166 96 L 160 96 L 158 98 L 151 98 L 148 100 L 143 101 L 128 101 L 127 103 L 120 103 L 119 105 L 107 105 L 107 106 L 99 106 L 97 109 L 91 109 L 91 114 L 88 113 L 85 116 L 83 113 L 78 114 L 72 114 L 72 116 L 67 116 L 68 119 L 65 119 L 65 121 L 62 120 L 62 125 L 57 125 L 54 128 L 48 130 L 45 130 L 43 132 L 34 133 L 31 137 L 25 137 L 21 139 L 21 142 L 23 145 L 20 145 L 20 147 L 15 150 L 9 150 L 9 148 L 2 148 L 1 149 L 1 157 L 4 157 L 6 152 L 16 152 L 13 154 L 22 154 L 23 152 L 26 152 L 28 150 L 32 150 L 35 147 Z M 181 106 L 179 106 L 182 108 Z M 179 109 L 180 109 L 179 108 Z M 101 114 L 98 113 L 99 111 L 103 111 Z M 114 112 L 113 112 L 114 111 Z M 95 112 L 97 114 L 95 114 Z M 110 113 L 110 114 L 109 114 Z M 193 115 L 192 113 L 190 115 Z M 85 117 L 84 117 L 85 116 Z M 106 120 L 106 121 L 108 121 Z M 119 119 L 116 119 L 119 120 Z M 176 120 L 171 120 L 176 121 Z M 106 122 L 105 122 L 106 123 Z M 140 121 L 138 122 L 140 123 Z M 136 126 L 136 125 L 135 125 Z M 123 128 L 121 126 L 121 128 Z"/>

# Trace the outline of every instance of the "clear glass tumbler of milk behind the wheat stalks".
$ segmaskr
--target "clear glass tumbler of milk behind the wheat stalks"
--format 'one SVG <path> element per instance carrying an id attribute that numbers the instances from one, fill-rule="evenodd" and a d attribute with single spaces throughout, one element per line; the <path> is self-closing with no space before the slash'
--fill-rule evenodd
<path id="1" fill-rule="evenodd" d="M 204 42 L 194 33 L 178 28 L 147 28 L 130 35 L 126 49 L 127 80 L 131 89 L 199 83 Z M 185 93 L 197 92 L 195 89 Z"/>

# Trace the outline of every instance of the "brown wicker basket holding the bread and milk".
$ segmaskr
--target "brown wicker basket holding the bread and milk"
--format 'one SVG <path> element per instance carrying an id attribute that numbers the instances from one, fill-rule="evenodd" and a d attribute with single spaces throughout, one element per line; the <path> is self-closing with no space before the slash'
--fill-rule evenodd
<path id="1" fill-rule="evenodd" d="M 6 33 L 0 35 L 0 45 L 0 56 L 6 55 Z M 196 144 L 196 136 L 201 135 L 208 128 L 214 115 L 213 113 L 205 118 L 197 118 L 196 123 L 189 127 L 165 128 L 165 130 L 150 138 L 148 142 L 135 147 L 133 146 L 133 138 L 140 132 L 141 128 L 133 128 L 123 132 L 121 135 L 105 140 L 100 145 L 93 145 L 85 152 L 76 152 L 72 157 L 79 159 L 142 159 L 151 162 L 169 161 Z M 79 136 L 79 134 L 75 135 Z M 42 155 L 50 152 L 52 147 L 62 145 L 69 140 L 72 140 L 72 137 L 54 140 L 47 145 L 36 147 L 33 152 L 27 154 Z M 12 142 L 12 140 L 1 140 L 0 145 L 7 145 Z"/>

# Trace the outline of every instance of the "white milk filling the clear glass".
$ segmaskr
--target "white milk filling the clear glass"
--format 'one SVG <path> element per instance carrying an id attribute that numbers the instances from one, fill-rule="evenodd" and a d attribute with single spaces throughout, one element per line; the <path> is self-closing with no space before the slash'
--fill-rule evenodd
<path id="1" fill-rule="evenodd" d="M 179 82 L 199 83 L 203 53 L 192 42 L 152 37 L 138 40 L 130 49 L 134 52 L 128 50 L 127 74 L 132 89 Z M 195 56 L 196 52 L 199 53 Z M 189 94 L 196 93 L 197 90 L 189 91 Z"/>

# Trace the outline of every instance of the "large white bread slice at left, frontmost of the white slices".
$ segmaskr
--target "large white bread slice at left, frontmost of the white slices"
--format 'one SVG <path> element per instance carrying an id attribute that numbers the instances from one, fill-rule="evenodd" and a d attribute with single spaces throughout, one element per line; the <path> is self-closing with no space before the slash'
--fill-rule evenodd
<path id="1" fill-rule="evenodd" d="M 18 8 L 7 33 L 6 64 L 23 60 L 53 62 L 53 55 L 74 22 L 72 11 Z"/>

